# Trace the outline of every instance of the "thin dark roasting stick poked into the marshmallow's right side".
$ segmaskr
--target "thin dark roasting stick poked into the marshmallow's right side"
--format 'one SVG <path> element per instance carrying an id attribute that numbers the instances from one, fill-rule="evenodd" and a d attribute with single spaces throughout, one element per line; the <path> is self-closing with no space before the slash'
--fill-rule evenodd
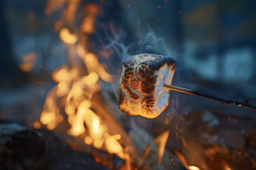
<path id="1" fill-rule="evenodd" d="M 245 99 L 244 101 L 239 101 L 239 100 L 233 100 L 233 99 L 225 99 L 222 97 L 218 97 L 215 95 L 210 95 L 207 93 L 203 93 L 200 91 L 194 91 L 191 90 L 189 88 L 183 88 L 183 87 L 179 87 L 179 86 L 173 86 L 173 85 L 169 85 L 169 84 L 164 84 L 164 88 L 168 88 L 172 91 L 178 91 L 178 92 L 182 92 L 182 93 L 186 93 L 186 94 L 190 94 L 190 95 L 195 95 L 195 96 L 201 96 L 204 97 L 205 99 L 213 99 L 215 101 L 219 101 L 222 104 L 236 104 L 238 106 L 243 106 L 243 107 L 248 107 L 251 108 L 253 110 L 256 110 L 256 106 L 253 104 L 249 104 L 249 98 Z"/>

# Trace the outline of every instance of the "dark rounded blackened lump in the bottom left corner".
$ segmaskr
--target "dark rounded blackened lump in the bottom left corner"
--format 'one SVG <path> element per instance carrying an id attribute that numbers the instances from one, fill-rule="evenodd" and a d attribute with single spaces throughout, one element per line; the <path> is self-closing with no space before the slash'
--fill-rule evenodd
<path id="1" fill-rule="evenodd" d="M 25 126 L 0 124 L 0 169 L 43 169 L 45 143 L 39 132 Z"/>

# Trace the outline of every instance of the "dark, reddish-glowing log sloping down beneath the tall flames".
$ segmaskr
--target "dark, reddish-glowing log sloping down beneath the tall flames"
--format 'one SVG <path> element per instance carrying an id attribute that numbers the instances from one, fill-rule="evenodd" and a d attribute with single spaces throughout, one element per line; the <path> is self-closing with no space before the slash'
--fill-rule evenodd
<path id="1" fill-rule="evenodd" d="M 83 167 L 90 166 L 89 169 L 95 169 L 94 166 L 102 165 L 101 169 L 112 169 L 112 170 L 119 170 L 121 166 L 124 165 L 124 160 L 115 156 L 111 155 L 106 151 L 99 150 L 94 148 L 93 146 L 89 146 L 84 142 L 84 136 L 81 135 L 79 137 L 72 137 L 67 135 L 67 133 L 63 130 L 63 127 L 57 127 L 53 130 L 52 135 L 57 138 L 57 143 L 61 143 L 63 147 L 58 147 L 58 155 L 66 155 L 69 156 L 68 153 L 74 153 L 78 159 L 83 159 L 81 162 L 83 163 Z M 54 142 L 56 143 L 56 141 Z M 56 147 L 53 147 L 53 149 Z M 54 151 L 56 152 L 56 151 Z M 83 158 L 85 157 L 85 158 Z M 90 158 L 88 158 L 90 157 Z M 56 156 L 55 156 L 56 158 Z M 59 162 L 60 159 L 57 158 L 55 161 Z M 70 161 L 67 161 L 68 163 Z M 61 168 L 60 168 L 61 169 Z M 77 169 L 74 167 L 74 169 Z M 108 169 L 109 170 L 109 169 Z"/>

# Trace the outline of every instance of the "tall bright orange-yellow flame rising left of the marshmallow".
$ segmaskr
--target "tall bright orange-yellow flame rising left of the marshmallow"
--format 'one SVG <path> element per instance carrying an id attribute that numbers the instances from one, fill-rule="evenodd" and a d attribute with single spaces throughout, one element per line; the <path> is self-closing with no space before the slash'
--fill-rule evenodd
<path id="1" fill-rule="evenodd" d="M 112 80 L 112 76 L 99 63 L 97 55 L 84 48 L 87 46 L 87 35 L 94 32 L 94 20 L 100 9 L 95 4 L 87 5 L 86 16 L 80 29 L 77 30 L 74 26 L 74 17 L 77 6 L 80 4 L 79 0 L 61 0 L 58 3 L 55 3 L 55 0 L 49 0 L 45 13 L 51 15 L 55 9 L 63 7 L 65 3 L 67 8 L 63 11 L 63 18 L 55 23 L 54 30 L 59 31 L 60 40 L 68 48 L 67 57 L 71 66 L 63 65 L 52 73 L 52 79 L 57 85 L 47 95 L 40 123 L 46 125 L 48 130 L 54 130 L 63 121 L 63 115 L 58 108 L 59 101 L 63 99 L 61 101 L 64 101 L 64 110 L 70 124 L 70 129 L 67 130 L 68 135 L 78 137 L 85 134 L 85 144 L 98 149 L 105 146 L 109 153 L 126 159 L 124 148 L 119 143 L 121 135 L 110 135 L 107 125 L 92 108 L 92 97 L 101 89 L 98 83 L 100 78 L 105 82 Z M 64 27 L 64 25 L 68 26 Z M 71 31 L 68 28 L 74 29 Z M 87 71 L 76 63 L 76 56 L 83 60 Z M 36 121 L 34 128 L 40 128 L 40 123 Z"/>

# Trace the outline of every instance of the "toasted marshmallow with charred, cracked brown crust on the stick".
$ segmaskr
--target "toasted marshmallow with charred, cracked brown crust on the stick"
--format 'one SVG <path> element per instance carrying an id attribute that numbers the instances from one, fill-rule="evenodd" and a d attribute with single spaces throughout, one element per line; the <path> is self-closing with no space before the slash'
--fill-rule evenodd
<path id="1" fill-rule="evenodd" d="M 119 109 L 128 115 L 153 119 L 170 104 L 171 84 L 175 72 L 173 57 L 138 54 L 123 63 L 119 80 Z"/>

